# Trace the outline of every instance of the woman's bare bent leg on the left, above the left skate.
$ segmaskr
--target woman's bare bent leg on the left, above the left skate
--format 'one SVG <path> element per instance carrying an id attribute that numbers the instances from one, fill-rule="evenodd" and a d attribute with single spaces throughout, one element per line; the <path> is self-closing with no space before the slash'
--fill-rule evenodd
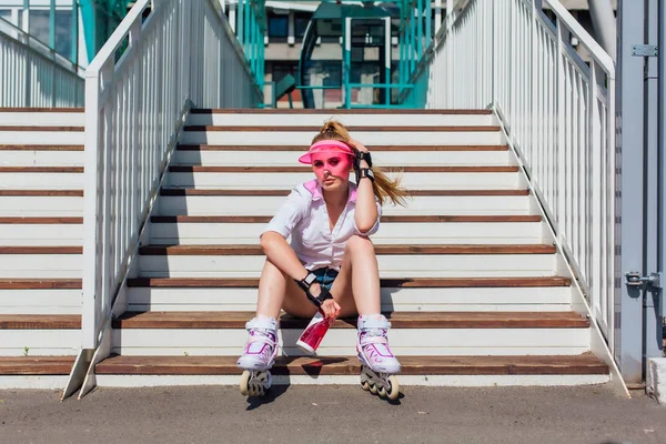
<path id="1" fill-rule="evenodd" d="M 259 280 L 256 316 L 278 319 L 280 310 L 296 317 L 312 317 L 316 312 L 294 280 L 266 260 Z"/>

